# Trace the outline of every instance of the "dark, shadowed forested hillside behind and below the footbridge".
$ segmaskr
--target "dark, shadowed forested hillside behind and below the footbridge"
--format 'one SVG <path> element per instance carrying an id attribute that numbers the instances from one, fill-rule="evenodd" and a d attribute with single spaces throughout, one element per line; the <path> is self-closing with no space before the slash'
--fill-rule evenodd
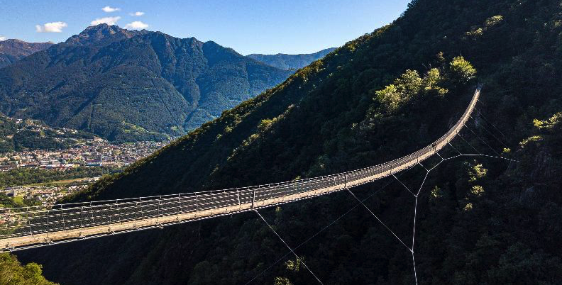
<path id="1" fill-rule="evenodd" d="M 412 1 L 390 25 L 75 200 L 246 186 L 392 160 L 446 132 L 478 81 L 481 113 L 468 127 L 490 147 L 462 135 L 479 152 L 518 162 L 459 157 L 431 172 L 418 199 L 418 284 L 560 284 L 561 15 L 559 0 Z M 468 143 L 453 141 L 474 153 Z M 419 187 L 424 172 L 400 179 Z M 404 186 L 390 179 L 353 191 L 371 196 L 365 204 L 412 240 L 414 199 Z M 260 212 L 293 247 L 313 237 L 296 252 L 324 284 L 414 284 L 411 252 L 356 204 L 343 191 Z M 255 213 L 244 213 L 18 255 L 68 285 L 317 283 L 285 253 Z"/>

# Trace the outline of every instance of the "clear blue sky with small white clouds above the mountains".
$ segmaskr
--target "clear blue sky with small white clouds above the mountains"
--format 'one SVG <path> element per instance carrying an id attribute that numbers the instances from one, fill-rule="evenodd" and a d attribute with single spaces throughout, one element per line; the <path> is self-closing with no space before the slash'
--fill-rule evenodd
<path id="1" fill-rule="evenodd" d="M 243 55 L 309 53 L 343 45 L 392 22 L 408 2 L 0 0 L 0 39 L 58 43 L 98 20 L 178 38 L 214 40 Z"/>

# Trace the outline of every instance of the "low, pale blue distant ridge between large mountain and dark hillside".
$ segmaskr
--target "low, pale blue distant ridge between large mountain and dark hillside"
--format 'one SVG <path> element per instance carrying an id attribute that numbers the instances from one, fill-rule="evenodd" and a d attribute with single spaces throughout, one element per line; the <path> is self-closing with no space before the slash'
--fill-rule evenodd
<path id="1" fill-rule="evenodd" d="M 326 48 L 326 50 L 321 50 L 311 54 L 285 55 L 284 53 L 277 53 L 277 55 L 260 55 L 254 53 L 248 55 L 248 57 L 263 62 L 266 65 L 271 65 L 272 67 L 290 70 L 305 67 L 311 62 L 314 62 L 314 60 L 319 60 L 334 50 L 336 50 L 336 47 Z"/>

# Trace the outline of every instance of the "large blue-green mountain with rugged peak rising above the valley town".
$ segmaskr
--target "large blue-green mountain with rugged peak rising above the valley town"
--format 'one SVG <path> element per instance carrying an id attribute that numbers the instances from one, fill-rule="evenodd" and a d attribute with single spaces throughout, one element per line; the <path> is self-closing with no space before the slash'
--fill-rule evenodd
<path id="1" fill-rule="evenodd" d="M 109 140 L 158 139 L 289 74 L 212 41 L 101 24 L 0 69 L 0 112 Z"/>

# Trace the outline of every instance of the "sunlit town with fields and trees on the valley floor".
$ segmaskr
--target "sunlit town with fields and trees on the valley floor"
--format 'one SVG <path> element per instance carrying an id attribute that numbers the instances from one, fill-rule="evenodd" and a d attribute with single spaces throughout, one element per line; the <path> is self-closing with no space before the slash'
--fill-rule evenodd
<path id="1" fill-rule="evenodd" d="M 4 123 L 0 129 L 0 175 L 57 172 L 60 175 L 54 177 L 66 177 L 43 179 L 33 184 L 2 181 L 0 195 L 8 196 L 19 206 L 52 205 L 86 189 L 99 180 L 101 174 L 121 172 L 169 143 L 111 143 L 79 130 L 51 128 L 36 120 L 9 117 L 0 120 Z"/>

